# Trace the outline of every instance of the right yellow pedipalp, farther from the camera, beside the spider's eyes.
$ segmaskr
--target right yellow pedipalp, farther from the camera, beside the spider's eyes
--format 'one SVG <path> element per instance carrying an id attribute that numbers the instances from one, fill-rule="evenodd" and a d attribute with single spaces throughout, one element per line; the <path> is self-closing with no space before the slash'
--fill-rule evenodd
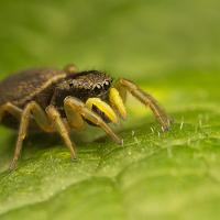
<path id="1" fill-rule="evenodd" d="M 111 88 L 109 92 L 110 103 L 119 111 L 123 119 L 127 118 L 127 109 L 124 107 L 123 100 L 116 88 Z"/>

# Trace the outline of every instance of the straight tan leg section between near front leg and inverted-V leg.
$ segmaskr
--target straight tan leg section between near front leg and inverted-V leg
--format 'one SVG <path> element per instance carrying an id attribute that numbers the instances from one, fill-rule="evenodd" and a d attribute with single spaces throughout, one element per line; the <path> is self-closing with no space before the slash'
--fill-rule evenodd
<path id="1" fill-rule="evenodd" d="M 47 113 L 48 119 L 53 123 L 53 127 L 59 133 L 59 135 L 64 140 L 66 146 L 68 147 L 72 158 L 75 160 L 76 158 L 76 152 L 75 152 L 76 145 L 74 142 L 72 142 L 68 130 L 67 130 L 59 112 L 57 111 L 57 109 L 54 106 L 51 105 L 46 108 L 46 113 Z"/>

